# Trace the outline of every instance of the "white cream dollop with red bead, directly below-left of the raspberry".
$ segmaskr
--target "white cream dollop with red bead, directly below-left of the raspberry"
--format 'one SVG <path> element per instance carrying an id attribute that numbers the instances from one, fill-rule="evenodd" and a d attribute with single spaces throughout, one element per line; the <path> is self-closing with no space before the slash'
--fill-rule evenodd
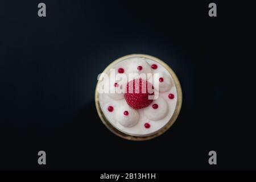
<path id="1" fill-rule="evenodd" d="M 128 112 L 127 115 L 125 115 L 125 111 Z M 117 110 L 115 111 L 115 119 L 122 126 L 131 127 L 138 123 L 139 113 L 137 110 L 131 109 L 128 105 L 122 105 L 117 107 Z"/>

